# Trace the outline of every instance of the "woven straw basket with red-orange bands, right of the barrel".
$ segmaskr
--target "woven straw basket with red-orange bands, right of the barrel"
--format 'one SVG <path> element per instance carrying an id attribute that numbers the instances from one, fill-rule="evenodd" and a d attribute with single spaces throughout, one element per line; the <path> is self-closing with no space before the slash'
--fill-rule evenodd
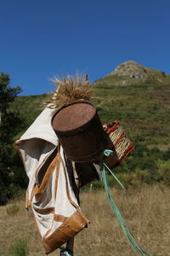
<path id="1" fill-rule="evenodd" d="M 109 125 L 103 125 L 103 127 L 111 139 L 108 148 L 114 152 L 105 158 L 105 164 L 109 168 L 116 168 L 134 150 L 134 145 L 123 131 L 119 121 L 113 121 Z"/>

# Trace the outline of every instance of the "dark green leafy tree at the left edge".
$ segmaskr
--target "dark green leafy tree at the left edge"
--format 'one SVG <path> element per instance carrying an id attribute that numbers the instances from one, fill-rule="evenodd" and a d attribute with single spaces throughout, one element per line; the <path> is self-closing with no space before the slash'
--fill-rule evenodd
<path id="1" fill-rule="evenodd" d="M 20 125 L 20 115 L 10 110 L 21 89 L 20 86 L 10 87 L 10 78 L 6 73 L 0 73 L 0 198 L 4 197 L 10 184 L 11 166 L 14 165 L 14 135 Z"/>

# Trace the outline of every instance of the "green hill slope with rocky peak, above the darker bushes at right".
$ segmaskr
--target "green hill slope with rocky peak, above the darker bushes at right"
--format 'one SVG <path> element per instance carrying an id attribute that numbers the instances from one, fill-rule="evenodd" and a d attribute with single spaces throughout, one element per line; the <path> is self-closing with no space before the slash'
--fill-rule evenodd
<path id="1" fill-rule="evenodd" d="M 96 81 L 93 89 L 102 120 L 122 121 L 135 142 L 168 148 L 170 75 L 127 61 Z"/>

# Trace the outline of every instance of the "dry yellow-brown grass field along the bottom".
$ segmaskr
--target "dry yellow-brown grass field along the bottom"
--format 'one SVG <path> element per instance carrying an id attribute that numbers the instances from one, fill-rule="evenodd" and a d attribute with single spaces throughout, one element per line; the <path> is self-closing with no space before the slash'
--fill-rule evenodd
<path id="1" fill-rule="evenodd" d="M 113 197 L 139 246 L 151 256 L 169 256 L 170 189 L 144 186 L 126 194 L 113 189 Z M 82 212 L 91 224 L 76 237 L 76 256 L 136 255 L 116 223 L 105 191 L 82 192 L 81 201 Z M 19 211 L 8 215 L 7 207 L 14 204 L 20 207 Z M 9 248 L 19 238 L 28 241 L 29 256 L 45 255 L 32 212 L 26 212 L 24 201 L 13 201 L 0 207 L 0 255 L 11 255 Z M 50 255 L 59 256 L 59 250 Z"/>

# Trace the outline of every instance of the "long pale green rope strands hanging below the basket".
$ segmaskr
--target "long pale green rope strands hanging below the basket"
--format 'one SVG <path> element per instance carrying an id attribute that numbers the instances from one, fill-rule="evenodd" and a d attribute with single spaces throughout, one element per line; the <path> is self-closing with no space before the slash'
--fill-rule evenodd
<path id="1" fill-rule="evenodd" d="M 111 150 L 110 150 L 111 151 Z M 104 152 L 104 154 L 108 154 L 108 151 L 107 152 Z M 111 154 L 111 152 L 109 152 L 109 154 Z M 148 253 L 145 253 L 138 245 L 138 243 L 135 241 L 134 237 L 133 237 L 133 234 L 132 232 L 128 229 L 127 225 L 125 224 L 125 221 L 124 219 L 122 218 L 122 214 L 121 212 L 119 211 L 118 207 L 116 207 L 116 203 L 115 201 L 113 200 L 112 198 L 112 195 L 111 195 L 111 189 L 109 187 L 109 184 L 108 184 L 108 181 L 107 181 L 107 177 L 106 177 L 106 173 L 105 173 L 105 167 L 107 167 L 107 169 L 109 169 L 108 166 L 106 166 L 104 163 L 101 163 L 101 178 L 102 178 L 102 181 L 105 185 L 105 192 L 106 192 L 106 195 L 108 197 L 108 200 L 109 200 L 109 203 L 111 205 L 111 209 L 112 211 L 115 213 L 115 216 L 116 216 L 116 220 L 119 224 L 119 226 L 121 227 L 122 231 L 124 232 L 125 236 L 127 237 L 127 241 L 130 243 L 130 245 L 133 247 L 133 250 L 134 252 L 137 254 L 137 253 L 140 253 L 142 256 L 145 256 L 145 255 L 149 255 Z M 110 169 L 109 169 L 110 170 Z M 118 179 L 116 179 L 118 180 Z M 120 183 L 120 182 L 119 182 Z M 124 187 L 123 187 L 124 188 Z M 150 256 L 150 255 L 149 255 Z"/>

